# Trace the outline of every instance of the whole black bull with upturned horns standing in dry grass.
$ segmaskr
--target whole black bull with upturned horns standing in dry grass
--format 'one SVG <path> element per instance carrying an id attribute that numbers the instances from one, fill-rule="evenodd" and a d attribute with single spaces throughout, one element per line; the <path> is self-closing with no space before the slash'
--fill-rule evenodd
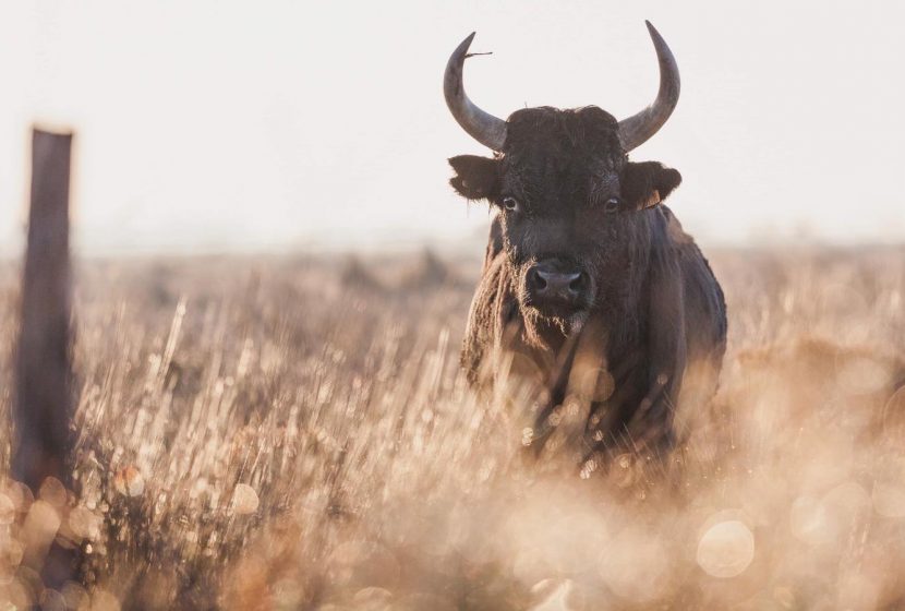
<path id="1" fill-rule="evenodd" d="M 723 292 L 663 204 L 681 177 L 628 160 L 678 99 L 675 59 L 649 28 L 660 93 L 623 121 L 593 106 L 484 112 L 461 82 L 472 37 L 445 76 L 454 117 L 494 151 L 449 160 L 456 191 L 497 208 L 462 364 L 473 384 L 531 407 L 526 443 L 586 460 L 673 446 L 725 351 Z"/>

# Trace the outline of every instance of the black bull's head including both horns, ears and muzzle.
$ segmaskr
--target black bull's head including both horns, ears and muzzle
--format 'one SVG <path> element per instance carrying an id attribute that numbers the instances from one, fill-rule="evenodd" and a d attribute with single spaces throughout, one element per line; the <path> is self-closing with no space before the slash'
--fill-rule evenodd
<path id="1" fill-rule="evenodd" d="M 578 323 L 598 306 L 637 292 L 650 251 L 652 208 L 681 181 L 657 163 L 630 163 L 627 154 L 666 122 L 679 95 L 675 58 L 648 23 L 660 60 L 660 92 L 637 115 L 616 121 L 589 106 L 541 107 L 504 121 L 478 108 L 462 86 L 462 67 L 474 34 L 449 58 L 446 103 L 459 124 L 494 156 L 449 159 L 452 187 L 469 200 L 498 208 L 504 249 L 526 314 Z M 569 325 L 571 326 L 571 325 Z"/>

